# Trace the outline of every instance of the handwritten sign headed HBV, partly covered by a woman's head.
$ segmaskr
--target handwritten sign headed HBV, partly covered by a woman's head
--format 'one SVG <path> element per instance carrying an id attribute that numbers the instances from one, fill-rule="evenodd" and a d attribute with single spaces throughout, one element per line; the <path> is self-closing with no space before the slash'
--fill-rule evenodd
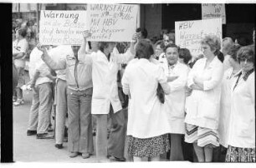
<path id="1" fill-rule="evenodd" d="M 193 57 L 201 54 L 201 40 L 206 35 L 222 39 L 222 19 L 175 22 L 175 41 L 179 47 L 186 47 Z"/>

